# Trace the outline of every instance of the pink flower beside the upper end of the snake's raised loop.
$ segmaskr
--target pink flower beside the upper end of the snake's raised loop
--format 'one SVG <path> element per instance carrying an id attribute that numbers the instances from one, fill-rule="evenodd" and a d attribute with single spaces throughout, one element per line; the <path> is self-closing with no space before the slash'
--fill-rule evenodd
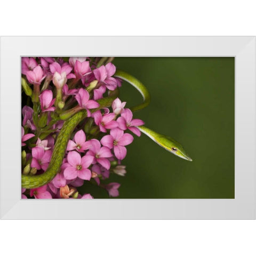
<path id="1" fill-rule="evenodd" d="M 114 77 L 116 67 L 112 63 L 107 63 L 106 66 L 101 66 L 93 70 L 95 78 L 99 81 L 102 86 L 106 86 L 108 90 L 113 91 L 117 87 L 117 81 Z"/>

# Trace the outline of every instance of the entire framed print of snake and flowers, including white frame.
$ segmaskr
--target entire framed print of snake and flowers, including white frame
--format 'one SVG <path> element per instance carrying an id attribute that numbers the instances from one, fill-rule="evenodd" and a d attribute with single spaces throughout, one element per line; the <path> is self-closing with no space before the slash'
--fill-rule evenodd
<path id="1" fill-rule="evenodd" d="M 1 218 L 255 219 L 255 37 L 2 37 Z"/>

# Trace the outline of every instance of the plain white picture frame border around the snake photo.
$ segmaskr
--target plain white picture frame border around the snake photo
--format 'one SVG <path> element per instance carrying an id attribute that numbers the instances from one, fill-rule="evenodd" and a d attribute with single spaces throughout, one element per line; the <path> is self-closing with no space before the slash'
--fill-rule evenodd
<path id="1" fill-rule="evenodd" d="M 21 56 L 235 57 L 235 199 L 21 199 Z M 1 219 L 255 219 L 255 37 L 1 37 Z"/>

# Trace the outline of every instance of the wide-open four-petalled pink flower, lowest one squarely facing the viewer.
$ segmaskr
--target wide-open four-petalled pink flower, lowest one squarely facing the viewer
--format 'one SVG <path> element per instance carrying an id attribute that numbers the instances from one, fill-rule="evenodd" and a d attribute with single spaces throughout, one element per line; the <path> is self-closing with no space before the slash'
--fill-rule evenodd
<path id="1" fill-rule="evenodd" d="M 83 156 L 76 151 L 70 151 L 67 156 L 69 166 L 64 170 L 64 177 L 67 180 L 73 180 L 79 177 L 82 180 L 90 180 L 92 173 L 87 169 L 92 161 L 92 156 Z"/>

